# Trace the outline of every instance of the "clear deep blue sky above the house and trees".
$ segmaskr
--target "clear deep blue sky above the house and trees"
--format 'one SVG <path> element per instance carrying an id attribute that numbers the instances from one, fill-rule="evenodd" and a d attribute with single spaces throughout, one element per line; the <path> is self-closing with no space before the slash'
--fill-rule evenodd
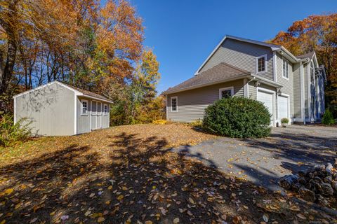
<path id="1" fill-rule="evenodd" d="M 337 9 L 336 0 L 131 3 L 144 20 L 145 45 L 154 50 L 160 62 L 159 93 L 191 78 L 225 34 L 265 41 L 293 21 Z"/>

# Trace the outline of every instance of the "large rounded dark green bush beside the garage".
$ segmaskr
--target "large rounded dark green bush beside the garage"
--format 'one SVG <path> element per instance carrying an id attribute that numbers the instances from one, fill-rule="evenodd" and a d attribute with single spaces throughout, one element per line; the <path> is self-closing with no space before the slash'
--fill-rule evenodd
<path id="1" fill-rule="evenodd" d="M 260 138 L 270 134 L 270 113 L 263 103 L 244 97 L 219 99 L 206 109 L 204 128 L 232 138 Z"/>

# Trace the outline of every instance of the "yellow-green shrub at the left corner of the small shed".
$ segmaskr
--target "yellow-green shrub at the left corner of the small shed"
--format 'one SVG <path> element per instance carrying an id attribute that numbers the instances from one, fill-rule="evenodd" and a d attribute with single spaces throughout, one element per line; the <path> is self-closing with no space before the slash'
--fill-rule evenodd
<path id="1" fill-rule="evenodd" d="M 27 118 L 22 118 L 14 124 L 13 116 L 4 115 L 0 118 L 0 146 L 11 146 L 27 140 L 32 135 L 31 123 Z"/>

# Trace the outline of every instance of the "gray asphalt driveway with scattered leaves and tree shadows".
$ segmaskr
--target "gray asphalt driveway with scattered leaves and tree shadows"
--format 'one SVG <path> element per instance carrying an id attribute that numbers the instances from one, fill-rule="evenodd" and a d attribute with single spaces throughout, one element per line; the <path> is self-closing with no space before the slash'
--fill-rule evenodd
<path id="1" fill-rule="evenodd" d="M 270 190 L 277 180 L 337 158 L 337 128 L 312 125 L 275 127 L 266 139 L 220 137 L 197 146 L 174 148 L 227 174 L 242 177 Z"/>

